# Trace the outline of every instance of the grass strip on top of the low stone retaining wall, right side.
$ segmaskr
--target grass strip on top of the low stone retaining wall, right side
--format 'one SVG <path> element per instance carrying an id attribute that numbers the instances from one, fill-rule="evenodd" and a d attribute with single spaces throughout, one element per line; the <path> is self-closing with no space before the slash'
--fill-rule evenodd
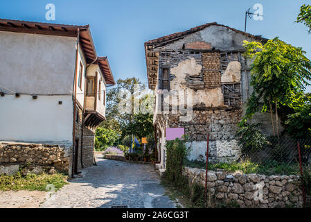
<path id="1" fill-rule="evenodd" d="M 205 162 L 185 160 L 184 166 L 205 169 Z M 249 160 L 242 162 L 220 162 L 216 164 L 208 164 L 209 170 L 224 169 L 226 171 L 242 171 L 243 173 L 261 173 L 265 175 L 282 174 L 290 175 L 299 173 L 299 164 L 286 164 L 284 162 L 276 162 L 275 160 L 267 160 L 264 163 L 255 163 Z"/>

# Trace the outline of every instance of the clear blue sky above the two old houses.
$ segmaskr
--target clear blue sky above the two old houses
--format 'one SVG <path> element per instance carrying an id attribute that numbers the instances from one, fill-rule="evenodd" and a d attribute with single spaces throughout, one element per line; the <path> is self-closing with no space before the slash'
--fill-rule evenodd
<path id="1" fill-rule="evenodd" d="M 55 21 L 46 21 L 46 4 L 55 5 Z M 147 83 L 144 42 L 217 22 L 244 31 L 245 11 L 263 5 L 263 21 L 247 20 L 247 32 L 280 37 L 301 46 L 311 58 L 311 34 L 296 24 L 299 8 L 311 0 L 10 0 L 0 3 L 0 18 L 55 24 L 89 24 L 98 56 L 108 56 L 114 78 L 135 76 Z M 308 87 L 307 92 L 311 92 Z"/>

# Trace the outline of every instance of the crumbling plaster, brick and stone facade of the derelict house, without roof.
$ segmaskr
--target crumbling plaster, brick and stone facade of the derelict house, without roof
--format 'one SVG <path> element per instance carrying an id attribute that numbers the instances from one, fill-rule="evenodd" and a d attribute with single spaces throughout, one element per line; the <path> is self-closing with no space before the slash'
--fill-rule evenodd
<path id="1" fill-rule="evenodd" d="M 161 47 L 162 52 L 172 52 L 169 58 L 165 54 L 165 59 L 161 57 L 160 52 L 159 58 L 159 70 L 162 65 L 170 67 L 171 90 L 193 88 L 193 85 L 187 84 L 189 76 L 190 80 L 200 85 L 197 89 L 193 89 L 195 110 L 191 121 L 182 122 L 179 114 L 165 115 L 168 119 L 166 127 L 185 128 L 185 134 L 190 138 L 190 142 L 187 143 L 187 146 L 191 148 L 188 155 L 190 160 L 206 160 L 207 133 L 210 135 L 209 160 L 211 162 L 227 162 L 236 160 L 240 156 L 240 146 L 238 146 L 235 134 L 238 129 L 237 123 L 245 113 L 245 103 L 251 94 L 249 83 L 251 82 L 252 60 L 245 59 L 236 53 L 222 74 L 217 70 L 222 69 L 220 67 L 221 53 L 224 51 L 242 52 L 245 50 L 242 46 L 244 40 L 256 41 L 223 26 L 209 26 Z M 191 46 L 193 49 L 206 47 L 206 50 L 213 50 L 191 53 L 189 48 Z M 240 83 L 242 102 L 240 107 L 230 109 L 228 105 L 224 105 L 222 92 L 224 83 Z M 196 107 L 200 109 L 197 110 Z M 254 121 L 263 123 L 263 133 L 272 134 L 268 114 L 258 113 Z"/>

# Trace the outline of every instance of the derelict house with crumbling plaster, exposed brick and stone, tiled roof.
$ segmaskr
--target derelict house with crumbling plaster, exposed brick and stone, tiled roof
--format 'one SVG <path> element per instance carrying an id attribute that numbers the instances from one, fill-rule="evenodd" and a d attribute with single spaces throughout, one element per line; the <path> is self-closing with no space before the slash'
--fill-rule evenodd
<path id="1" fill-rule="evenodd" d="M 145 42 L 148 83 L 156 95 L 154 128 L 160 168 L 166 167 L 166 128 L 184 128 L 190 160 L 206 160 L 208 134 L 212 162 L 239 157 L 237 123 L 251 94 L 251 60 L 242 56 L 243 40 L 267 42 L 217 23 Z M 268 114 L 254 117 L 267 134 L 272 133 L 267 127 L 270 120 Z"/>

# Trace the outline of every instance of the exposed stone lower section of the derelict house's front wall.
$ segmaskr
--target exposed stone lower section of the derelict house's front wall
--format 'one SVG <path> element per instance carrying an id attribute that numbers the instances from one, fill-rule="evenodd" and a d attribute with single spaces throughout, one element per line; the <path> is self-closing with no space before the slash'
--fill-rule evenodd
<path id="1" fill-rule="evenodd" d="M 206 140 L 209 134 L 209 160 L 227 162 L 240 157 L 240 146 L 235 138 L 241 110 L 194 110 L 192 121 L 179 121 L 178 115 L 168 117 L 168 127 L 185 128 L 191 148 L 190 160 L 206 160 Z"/>

